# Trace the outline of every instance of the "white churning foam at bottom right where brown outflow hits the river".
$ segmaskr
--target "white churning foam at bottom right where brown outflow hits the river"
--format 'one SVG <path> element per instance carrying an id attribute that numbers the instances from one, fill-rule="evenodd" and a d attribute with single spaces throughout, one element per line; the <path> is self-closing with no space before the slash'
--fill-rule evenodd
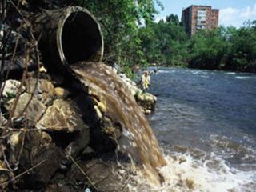
<path id="1" fill-rule="evenodd" d="M 170 154 L 165 159 L 167 166 L 159 172 L 164 178 L 161 187 L 151 186 L 157 192 L 254 192 L 256 173 L 241 171 L 226 165 L 222 158 L 210 154 L 210 160 L 194 159 L 190 154 Z M 214 165 L 214 166 L 213 166 Z M 138 185 L 146 181 L 138 174 Z M 135 187 L 137 188 L 137 187 Z M 132 190 L 134 191 L 134 190 Z M 144 190 L 139 190 L 144 191 Z M 146 192 L 145 191 L 145 192 Z"/>

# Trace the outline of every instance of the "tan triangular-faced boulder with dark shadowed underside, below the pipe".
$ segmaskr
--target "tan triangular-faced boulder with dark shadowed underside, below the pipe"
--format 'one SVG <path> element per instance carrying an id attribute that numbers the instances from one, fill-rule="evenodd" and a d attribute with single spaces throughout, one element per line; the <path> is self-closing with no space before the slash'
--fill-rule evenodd
<path id="1" fill-rule="evenodd" d="M 48 133 L 60 135 L 55 137 L 55 142 L 66 148 L 67 157 L 70 154 L 76 156 L 90 141 L 90 129 L 83 121 L 82 111 L 71 100 L 56 99 L 36 127 Z"/>

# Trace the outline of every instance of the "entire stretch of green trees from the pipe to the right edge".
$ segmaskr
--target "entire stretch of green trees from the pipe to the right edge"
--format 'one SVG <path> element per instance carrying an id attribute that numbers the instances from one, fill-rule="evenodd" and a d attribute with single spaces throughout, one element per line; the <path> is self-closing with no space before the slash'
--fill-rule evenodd
<path id="1" fill-rule="evenodd" d="M 134 65 L 256 72 L 256 21 L 240 29 L 201 30 L 191 38 L 178 16 L 156 23 L 158 0 L 80 0 L 102 25 L 105 62 L 132 75 Z"/>

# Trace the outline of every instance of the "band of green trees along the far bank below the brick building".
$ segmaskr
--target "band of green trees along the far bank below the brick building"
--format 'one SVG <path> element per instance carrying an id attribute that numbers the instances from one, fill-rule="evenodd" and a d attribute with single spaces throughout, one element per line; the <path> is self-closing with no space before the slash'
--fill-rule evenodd
<path id="1" fill-rule="evenodd" d="M 256 72 L 256 21 L 240 29 L 200 30 L 189 38 L 178 17 L 140 29 L 147 62 L 208 70 Z"/>

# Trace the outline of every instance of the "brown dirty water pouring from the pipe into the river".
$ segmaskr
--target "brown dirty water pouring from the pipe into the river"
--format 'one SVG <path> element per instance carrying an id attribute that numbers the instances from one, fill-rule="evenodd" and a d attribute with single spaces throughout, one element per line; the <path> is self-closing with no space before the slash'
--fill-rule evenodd
<path id="1" fill-rule="evenodd" d="M 122 82 L 122 78 L 103 63 L 78 62 L 70 66 L 84 86 L 90 87 L 106 104 L 106 115 L 122 125 L 118 148 L 130 155 L 146 178 L 159 185 L 158 169 L 166 166 L 158 141 L 142 109 Z"/>

